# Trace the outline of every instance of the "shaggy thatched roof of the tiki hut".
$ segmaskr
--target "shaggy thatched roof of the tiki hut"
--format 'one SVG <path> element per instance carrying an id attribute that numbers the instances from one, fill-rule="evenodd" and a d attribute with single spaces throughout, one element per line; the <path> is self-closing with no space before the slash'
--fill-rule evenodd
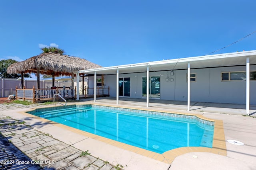
<path id="1" fill-rule="evenodd" d="M 39 73 L 52 75 L 54 80 L 54 76 L 70 74 L 74 76 L 74 71 L 100 67 L 102 66 L 78 57 L 70 57 L 57 53 L 43 53 L 26 59 L 25 61 L 11 64 L 7 68 L 7 72 L 8 74 L 22 74 L 22 77 L 24 73 L 37 73 L 37 88 L 40 88 Z"/>

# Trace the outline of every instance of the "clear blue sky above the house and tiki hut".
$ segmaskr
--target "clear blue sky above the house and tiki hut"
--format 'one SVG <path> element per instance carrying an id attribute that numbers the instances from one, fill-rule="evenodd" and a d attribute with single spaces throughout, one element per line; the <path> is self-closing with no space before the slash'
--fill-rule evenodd
<path id="1" fill-rule="evenodd" d="M 50 44 L 101 66 L 209 54 L 256 31 L 255 0 L 1 0 L 0 59 Z M 218 53 L 256 49 L 256 33 Z"/>

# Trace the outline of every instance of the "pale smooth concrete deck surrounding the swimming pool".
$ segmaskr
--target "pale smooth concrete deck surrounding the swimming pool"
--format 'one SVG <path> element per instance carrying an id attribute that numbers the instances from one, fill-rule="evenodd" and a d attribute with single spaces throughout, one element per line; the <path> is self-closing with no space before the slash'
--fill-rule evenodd
<path id="1" fill-rule="evenodd" d="M 181 153 L 180 156 L 176 156 L 172 163 L 159 161 L 157 159 L 152 159 L 149 156 L 143 156 L 143 154 L 139 154 L 139 152 L 129 151 L 124 148 L 122 143 L 116 144 L 116 146 L 110 145 L 110 143 L 106 143 L 104 141 L 100 141 L 95 139 L 95 136 L 86 137 L 84 132 L 81 132 L 76 129 L 70 129 L 64 127 L 58 123 L 52 123 L 50 121 L 45 121 L 42 119 L 38 119 L 36 117 L 30 116 L 26 113 L 22 113 L 23 111 L 27 111 L 31 108 L 37 107 L 52 107 L 50 105 L 42 105 L 35 104 L 30 106 L 21 106 L 19 104 L 0 104 L 0 111 L 2 117 L 11 116 L 12 119 L 25 121 L 26 125 L 30 125 L 33 130 L 31 131 L 40 131 L 42 134 L 50 134 L 54 138 L 54 140 L 59 141 L 62 146 L 66 146 L 63 149 L 58 147 L 58 149 L 66 151 L 68 147 L 74 147 L 78 151 L 86 151 L 94 156 L 94 158 L 99 158 L 108 161 L 112 164 L 112 166 L 108 166 L 109 169 L 114 168 L 116 164 L 121 164 L 124 166 L 124 169 L 136 170 L 136 169 L 160 169 L 160 170 L 178 170 L 178 169 L 255 169 L 256 167 L 256 118 L 254 113 L 256 113 L 256 107 L 250 106 L 250 114 L 251 117 L 242 116 L 245 115 L 245 105 L 232 105 L 232 104 L 212 104 L 212 103 L 200 103 L 200 102 L 191 102 L 190 109 L 192 111 L 186 111 L 186 102 L 177 102 L 177 101 L 167 101 L 167 100 L 150 100 L 150 107 L 146 106 L 146 99 L 134 99 L 134 98 L 120 98 L 119 105 L 116 105 L 115 98 L 98 98 L 96 103 L 94 103 L 92 98 L 81 99 L 79 102 L 72 102 L 68 104 L 103 104 L 110 106 L 120 106 L 120 107 L 134 107 L 138 109 L 152 109 L 158 111 L 171 111 L 171 112 L 179 112 L 179 113 L 189 113 L 189 114 L 198 114 L 203 115 L 209 119 L 221 120 L 223 122 L 224 127 L 224 138 L 226 144 L 226 156 L 220 154 L 213 154 L 211 152 L 187 152 Z M 11 130 L 10 130 L 11 131 Z M 17 131 L 17 129 L 16 129 Z M 2 133 L 2 132 L 1 132 Z M 12 132 L 10 132 L 11 134 Z M 26 132 L 28 133 L 28 132 Z M 4 136 L 8 138 L 8 140 L 12 141 L 11 137 L 15 135 L 9 135 L 6 133 Z M 17 142 L 19 139 L 19 143 Z M 29 142 L 20 141 L 20 138 L 15 138 L 17 141 L 14 143 L 16 147 L 24 147 L 24 145 L 29 145 Z M 228 143 L 228 139 L 233 139 L 237 141 L 241 141 L 244 143 L 243 146 L 233 145 Z M 21 139 L 22 140 L 22 139 Z M 44 139 L 37 139 L 38 141 L 34 141 L 33 143 L 40 144 L 39 141 L 44 141 Z M 29 141 L 29 139 L 27 139 Z M 21 144 L 22 143 L 22 144 Z M 18 145 L 19 144 L 19 145 Z M 66 144 L 66 145 L 65 145 Z M 21 146 L 20 146 L 21 145 Z M 25 145 L 25 146 L 26 146 Z M 31 144 L 30 144 L 31 145 Z M 36 145 L 36 144 L 34 144 Z M 38 146 L 36 145 L 36 146 Z M 52 146 L 48 146 L 52 149 L 56 150 L 56 143 L 52 144 Z M 58 145 L 59 146 L 59 145 Z M 40 146 L 41 147 L 41 146 Z M 38 146 L 38 148 L 40 149 Z M 129 146 L 128 146 L 129 147 Z M 26 148 L 26 147 L 24 147 Z M 38 149 L 37 148 L 37 149 Z M 126 147 L 127 148 L 127 147 Z M 22 150 L 22 149 L 21 149 Z M 56 152 L 61 152 L 57 150 Z M 68 150 L 70 152 L 70 150 Z M 35 148 L 31 150 L 30 153 L 35 152 Z M 25 152 L 26 153 L 26 152 Z M 27 155 L 30 158 L 34 158 L 35 156 L 40 155 L 36 152 L 36 154 Z M 49 154 L 50 155 L 50 154 Z M 70 155 L 69 155 L 70 156 Z M 47 157 L 47 155 L 46 155 Z M 63 159 L 60 159 L 64 162 L 68 162 L 68 156 Z M 99 159 L 99 160 L 100 160 Z M 60 160 L 56 162 L 61 163 Z M 75 160 L 75 158 L 74 158 Z M 103 162 L 104 162 L 103 161 Z M 94 160 L 95 162 L 95 160 Z M 101 166 L 94 165 L 94 162 L 91 162 L 94 169 L 101 168 Z M 102 163 L 102 162 L 101 162 Z M 96 163 L 95 163 L 96 164 Z M 111 165 L 109 164 L 109 165 Z M 56 164 L 55 164 L 56 165 Z M 74 165 L 74 161 L 70 160 L 66 163 L 66 167 L 76 167 Z M 103 164 L 100 164 L 103 165 Z M 127 165 L 127 166 L 126 166 Z M 44 168 L 50 168 L 51 165 L 45 166 Z M 207 167 L 207 168 L 206 168 Z M 65 167 L 62 167 L 65 168 Z M 82 167 L 82 169 L 92 169 L 92 167 Z M 58 168 L 57 168 L 58 169 Z M 80 169 L 80 168 L 78 168 Z"/>

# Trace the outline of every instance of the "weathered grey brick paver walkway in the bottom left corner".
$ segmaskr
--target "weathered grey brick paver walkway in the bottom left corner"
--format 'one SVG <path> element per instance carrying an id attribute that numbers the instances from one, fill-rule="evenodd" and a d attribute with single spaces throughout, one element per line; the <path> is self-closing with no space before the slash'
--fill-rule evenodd
<path id="1" fill-rule="evenodd" d="M 114 167 L 90 155 L 88 150 L 54 139 L 22 120 L 0 115 L 0 132 L 0 160 L 4 170 L 111 170 Z"/>

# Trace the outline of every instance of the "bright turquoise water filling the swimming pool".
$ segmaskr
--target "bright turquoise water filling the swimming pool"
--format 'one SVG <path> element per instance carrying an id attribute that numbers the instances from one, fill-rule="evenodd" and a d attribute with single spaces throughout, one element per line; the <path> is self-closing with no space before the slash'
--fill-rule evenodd
<path id="1" fill-rule="evenodd" d="M 195 116 L 95 105 L 51 107 L 28 113 L 157 153 L 188 146 L 212 147 L 213 122 Z"/>

